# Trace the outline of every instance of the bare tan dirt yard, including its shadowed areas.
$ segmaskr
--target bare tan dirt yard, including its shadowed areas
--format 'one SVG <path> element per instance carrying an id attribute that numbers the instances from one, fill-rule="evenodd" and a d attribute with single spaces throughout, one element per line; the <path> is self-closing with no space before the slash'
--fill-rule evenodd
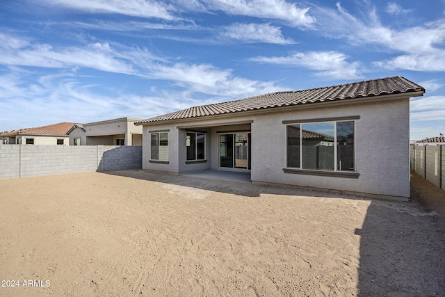
<path id="1" fill-rule="evenodd" d="M 0 296 L 445 295 L 445 195 L 425 188 L 388 202 L 127 170 L 0 189 Z"/>

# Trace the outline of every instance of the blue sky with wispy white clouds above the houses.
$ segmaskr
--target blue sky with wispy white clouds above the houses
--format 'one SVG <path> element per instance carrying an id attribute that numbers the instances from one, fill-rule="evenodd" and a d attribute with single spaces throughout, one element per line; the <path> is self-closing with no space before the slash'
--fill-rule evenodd
<path id="1" fill-rule="evenodd" d="M 445 133 L 445 1 L 0 1 L 0 131 L 401 75 Z"/>

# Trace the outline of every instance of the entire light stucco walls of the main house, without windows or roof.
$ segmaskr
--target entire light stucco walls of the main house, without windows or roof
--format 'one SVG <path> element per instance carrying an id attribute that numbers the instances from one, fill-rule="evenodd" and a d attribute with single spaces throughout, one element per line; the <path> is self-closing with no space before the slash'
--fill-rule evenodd
<path id="1" fill-rule="evenodd" d="M 358 178 L 290 174 L 286 168 L 286 125 L 283 121 L 337 117 L 355 120 L 355 167 Z M 218 131 L 250 131 L 252 134 L 252 182 L 267 182 L 327 188 L 373 195 L 410 197 L 410 106 L 409 98 L 378 102 L 355 102 L 334 106 L 300 109 L 276 109 L 262 113 L 206 117 L 184 122 L 159 123 L 143 128 L 143 168 L 186 172 L 218 168 Z M 240 127 L 230 122 L 251 122 Z M 185 164 L 185 130 L 178 127 L 207 129 L 207 162 Z M 169 163 L 149 163 L 149 131 L 169 130 Z M 208 152 L 210 151 L 210 154 Z"/>

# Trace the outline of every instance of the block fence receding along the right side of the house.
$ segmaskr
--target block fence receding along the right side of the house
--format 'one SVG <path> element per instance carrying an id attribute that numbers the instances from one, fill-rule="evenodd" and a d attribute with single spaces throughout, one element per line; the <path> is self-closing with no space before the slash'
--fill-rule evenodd
<path id="1" fill-rule="evenodd" d="M 445 145 L 412 145 L 411 171 L 445 190 Z"/>

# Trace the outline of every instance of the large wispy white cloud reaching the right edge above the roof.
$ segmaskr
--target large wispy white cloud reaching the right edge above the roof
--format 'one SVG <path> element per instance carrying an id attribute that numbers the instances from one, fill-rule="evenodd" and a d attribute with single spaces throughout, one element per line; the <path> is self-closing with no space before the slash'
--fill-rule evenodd
<path id="1" fill-rule="evenodd" d="M 366 11 L 359 18 L 339 3 L 336 10 L 318 6 L 314 9 L 321 31 L 330 38 L 342 38 L 354 46 L 376 45 L 381 50 L 401 53 L 386 61 L 375 61 L 373 65 L 376 67 L 386 70 L 445 70 L 445 19 L 398 31 L 382 25 L 375 8 L 366 6 Z"/>

